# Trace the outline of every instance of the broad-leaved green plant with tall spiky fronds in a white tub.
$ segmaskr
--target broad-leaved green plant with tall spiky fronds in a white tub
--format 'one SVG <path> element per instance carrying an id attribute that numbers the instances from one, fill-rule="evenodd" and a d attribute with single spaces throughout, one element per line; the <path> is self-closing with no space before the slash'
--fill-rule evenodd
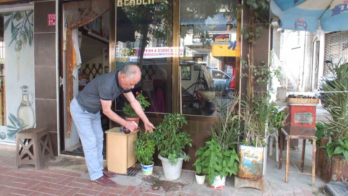
<path id="1" fill-rule="evenodd" d="M 220 102 L 223 103 L 223 102 Z M 217 104 L 219 123 L 215 123 L 210 132 L 211 141 L 197 150 L 196 180 L 199 183 L 200 176 L 206 175 L 208 184 L 215 189 L 224 188 L 227 175 L 237 174 L 239 158 L 235 147 L 240 136 L 240 120 L 235 114 L 238 99 L 228 100 L 224 104 Z M 204 181 L 203 181 L 204 183 Z"/>

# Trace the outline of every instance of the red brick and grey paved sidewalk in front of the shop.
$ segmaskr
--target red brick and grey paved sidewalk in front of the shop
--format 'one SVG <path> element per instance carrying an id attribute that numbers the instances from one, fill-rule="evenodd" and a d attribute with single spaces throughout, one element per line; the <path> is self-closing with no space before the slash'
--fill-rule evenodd
<path id="1" fill-rule="evenodd" d="M 233 178 L 227 178 L 226 187 L 215 190 L 205 185 L 198 185 L 192 171 L 183 170 L 181 178 L 175 182 L 163 178 L 161 167 L 155 167 L 153 175 L 144 176 L 141 172 L 135 177 L 118 175 L 112 178 L 118 183 L 116 187 L 108 188 L 92 185 L 88 179 L 83 159 L 57 157 L 54 164 L 45 162 L 49 168 L 35 170 L 34 166 L 14 168 L 15 152 L 0 154 L 0 196 L 6 195 L 135 195 L 135 196 L 229 196 L 229 195 L 323 195 L 325 183 L 316 181 L 316 187 L 311 187 L 308 176 L 290 175 L 289 183 L 284 183 L 284 171 L 278 170 L 278 164 L 272 159 L 267 163 L 267 190 L 260 191 L 253 188 L 234 188 Z M 63 165 L 64 163 L 65 165 Z M 74 165 L 75 164 L 75 165 Z M 60 165 L 61 167 L 57 167 Z M 68 168 L 66 165 L 69 165 Z M 59 168 L 59 169 L 57 169 Z"/>

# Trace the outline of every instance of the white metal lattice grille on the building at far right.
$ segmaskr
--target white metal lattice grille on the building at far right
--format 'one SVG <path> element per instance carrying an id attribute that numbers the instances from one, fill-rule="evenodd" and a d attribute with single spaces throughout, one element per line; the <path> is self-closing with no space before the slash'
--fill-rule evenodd
<path id="1" fill-rule="evenodd" d="M 348 58 L 348 31 L 331 32 L 325 34 L 324 60 L 338 63 Z M 324 64 L 324 76 L 329 75 L 329 66 Z"/>

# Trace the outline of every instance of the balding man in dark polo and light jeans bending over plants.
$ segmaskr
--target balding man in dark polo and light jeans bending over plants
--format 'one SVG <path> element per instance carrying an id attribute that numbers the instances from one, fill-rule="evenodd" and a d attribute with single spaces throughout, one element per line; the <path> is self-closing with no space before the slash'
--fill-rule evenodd
<path id="1" fill-rule="evenodd" d="M 119 117 L 111 110 L 111 103 L 121 93 L 143 120 L 145 130 L 150 132 L 155 128 L 145 116 L 140 103 L 135 99 L 132 88 L 139 83 L 141 71 L 136 65 L 127 65 L 120 71 L 106 73 L 90 81 L 85 88 L 71 101 L 70 112 L 77 127 L 82 147 L 85 153 L 87 168 L 92 183 L 112 187 L 116 183 L 108 178 L 116 173 L 103 168 L 103 130 L 100 121 L 100 110 L 129 130 L 135 130 L 136 125 Z"/>

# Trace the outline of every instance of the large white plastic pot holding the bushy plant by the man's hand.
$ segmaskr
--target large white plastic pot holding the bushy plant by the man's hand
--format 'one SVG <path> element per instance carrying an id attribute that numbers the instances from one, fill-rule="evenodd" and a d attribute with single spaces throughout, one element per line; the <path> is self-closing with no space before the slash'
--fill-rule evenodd
<path id="1" fill-rule="evenodd" d="M 185 152 L 183 152 L 183 156 L 185 156 L 185 155 L 186 155 Z M 167 180 L 177 180 L 180 178 L 182 162 L 184 161 L 183 156 L 178 158 L 177 164 L 173 166 L 169 163 L 169 159 L 161 156 L 161 153 L 158 154 L 158 158 L 162 161 L 164 177 Z"/>

